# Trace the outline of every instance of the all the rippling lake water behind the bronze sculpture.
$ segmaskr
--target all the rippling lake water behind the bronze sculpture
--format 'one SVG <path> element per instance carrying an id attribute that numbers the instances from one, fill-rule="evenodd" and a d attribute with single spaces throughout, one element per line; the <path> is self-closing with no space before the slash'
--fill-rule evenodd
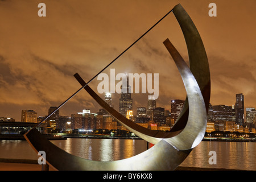
<path id="1" fill-rule="evenodd" d="M 147 142 L 139 139 L 51 140 L 70 154 L 98 161 L 130 158 L 147 149 Z M 209 164 L 210 151 L 216 152 L 216 164 Z M 0 158 L 38 159 L 26 140 L 0 140 Z M 194 148 L 180 166 L 256 170 L 255 142 L 208 142 Z"/>

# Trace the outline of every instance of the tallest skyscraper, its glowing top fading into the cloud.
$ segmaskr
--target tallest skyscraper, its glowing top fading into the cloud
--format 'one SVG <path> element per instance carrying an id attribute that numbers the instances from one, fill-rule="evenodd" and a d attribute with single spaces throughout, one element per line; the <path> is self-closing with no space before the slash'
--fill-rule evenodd
<path id="1" fill-rule="evenodd" d="M 131 86 L 127 76 L 126 85 L 121 86 L 121 98 L 119 98 L 119 113 L 124 117 L 127 115 L 127 110 L 133 110 L 133 99 L 131 98 Z"/>

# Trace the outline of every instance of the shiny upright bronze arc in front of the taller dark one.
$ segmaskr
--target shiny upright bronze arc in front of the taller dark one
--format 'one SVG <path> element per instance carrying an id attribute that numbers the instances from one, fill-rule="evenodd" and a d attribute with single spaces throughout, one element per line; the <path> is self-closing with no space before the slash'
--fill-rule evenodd
<path id="1" fill-rule="evenodd" d="M 191 73 L 179 52 L 177 52 L 169 39 L 166 39 L 163 43 L 179 69 L 187 92 L 189 105 L 188 121 L 184 130 L 175 137 L 164 140 L 172 144 L 177 150 L 188 150 L 197 146 L 204 138 L 207 126 L 207 112 L 205 110 L 204 98 L 196 78 Z"/>

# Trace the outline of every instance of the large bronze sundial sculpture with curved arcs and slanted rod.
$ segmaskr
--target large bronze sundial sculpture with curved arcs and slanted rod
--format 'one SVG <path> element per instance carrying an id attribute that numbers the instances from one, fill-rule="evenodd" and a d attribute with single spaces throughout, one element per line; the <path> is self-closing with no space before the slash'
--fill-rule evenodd
<path id="1" fill-rule="evenodd" d="M 201 142 L 207 125 L 207 111 L 210 100 L 210 72 L 207 54 L 195 24 L 193 24 L 191 18 L 183 7 L 181 5 L 176 5 L 170 12 L 174 13 L 180 24 L 181 30 L 183 31 L 188 48 L 190 65 L 189 68 L 179 52 L 177 52 L 175 47 L 171 44 L 170 40 L 164 40 L 163 44 L 175 61 L 187 92 L 183 110 L 171 131 L 164 132 L 149 130 L 123 117 L 123 115 L 119 114 L 116 110 L 106 104 L 106 102 L 88 86 L 89 82 L 97 75 L 86 84 L 78 73 L 76 73 L 74 76 L 82 85 L 82 88 L 76 93 L 81 89 L 85 89 L 90 96 L 92 96 L 106 111 L 113 115 L 119 123 L 142 139 L 155 145 L 141 154 L 128 159 L 112 162 L 86 160 L 68 154 L 68 152 L 61 150 L 61 148 L 49 142 L 48 139 L 36 130 L 36 126 L 38 126 L 39 123 L 24 134 L 24 137 L 36 152 L 46 152 L 46 161 L 49 166 L 58 170 L 174 170 L 183 162 L 192 149 Z M 133 44 L 131 46 L 133 46 Z M 127 51 L 127 49 L 125 51 Z M 113 60 L 112 63 L 115 60 Z M 75 94 L 73 94 L 73 96 L 75 96 Z M 69 97 L 68 100 L 73 96 Z M 57 109 L 67 101 L 61 104 Z M 53 113 L 55 111 L 53 111 Z M 48 115 L 48 117 L 50 115 Z"/>

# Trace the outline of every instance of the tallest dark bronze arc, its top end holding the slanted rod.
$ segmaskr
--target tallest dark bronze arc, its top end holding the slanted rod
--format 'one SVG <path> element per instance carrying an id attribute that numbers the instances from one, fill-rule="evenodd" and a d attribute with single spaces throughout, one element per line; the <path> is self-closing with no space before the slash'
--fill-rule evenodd
<path id="1" fill-rule="evenodd" d="M 208 113 L 210 101 L 210 70 L 203 41 L 192 19 L 180 4 L 174 7 L 172 13 L 174 13 L 183 32 L 188 49 L 189 67 L 193 76 L 195 76 L 197 83 L 199 84 L 201 93 L 204 97 L 205 109 Z M 171 131 L 179 131 L 184 129 L 185 125 L 187 125 L 187 119 L 188 99 L 186 98 L 179 118 L 175 122 L 175 125 L 172 127 Z"/>

